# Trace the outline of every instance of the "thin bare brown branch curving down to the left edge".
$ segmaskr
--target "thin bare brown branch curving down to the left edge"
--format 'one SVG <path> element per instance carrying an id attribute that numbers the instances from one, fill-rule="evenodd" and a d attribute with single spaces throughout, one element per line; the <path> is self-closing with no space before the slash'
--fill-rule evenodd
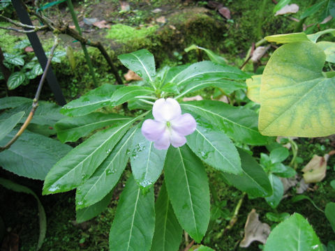
<path id="1" fill-rule="evenodd" d="M 16 140 L 22 135 L 24 130 L 26 130 L 27 126 L 31 122 L 31 119 L 33 119 L 35 111 L 38 107 L 38 99 L 40 98 L 40 91 L 42 90 L 42 87 L 43 87 L 43 84 L 44 84 L 44 81 L 45 81 L 45 77 L 47 76 L 47 70 L 49 70 L 49 68 L 50 68 L 51 60 L 52 60 L 52 57 L 54 56 L 54 50 L 56 49 L 57 45 L 58 45 L 58 36 L 56 36 L 54 38 L 54 45 L 52 45 L 52 48 L 51 48 L 51 51 L 50 51 L 50 56 L 47 59 L 47 65 L 45 66 L 45 69 L 43 71 L 43 75 L 40 78 L 40 84 L 38 84 L 38 89 L 36 91 L 33 104 L 31 105 L 32 107 L 31 107 L 30 113 L 29 113 L 26 121 L 24 121 L 23 125 L 21 126 L 20 130 L 13 137 L 13 139 L 10 139 L 10 141 L 5 146 L 0 146 L 0 152 L 5 151 L 6 149 L 10 148 L 10 146 L 12 144 L 14 144 L 14 142 L 16 142 Z"/>

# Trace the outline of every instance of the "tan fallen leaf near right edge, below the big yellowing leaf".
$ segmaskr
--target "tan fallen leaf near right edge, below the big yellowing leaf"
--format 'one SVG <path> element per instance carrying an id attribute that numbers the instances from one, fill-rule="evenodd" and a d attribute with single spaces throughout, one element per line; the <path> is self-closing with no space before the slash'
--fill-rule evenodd
<path id="1" fill-rule="evenodd" d="M 316 183 L 325 178 L 328 158 L 328 154 L 323 157 L 314 155 L 304 169 L 301 170 L 304 172 L 303 176 L 306 184 Z"/>

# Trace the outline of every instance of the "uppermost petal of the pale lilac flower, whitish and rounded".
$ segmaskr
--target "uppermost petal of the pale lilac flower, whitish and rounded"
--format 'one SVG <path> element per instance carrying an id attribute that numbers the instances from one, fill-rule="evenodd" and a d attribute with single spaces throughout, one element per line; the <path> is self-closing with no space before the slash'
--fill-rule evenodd
<path id="1" fill-rule="evenodd" d="M 177 100 L 173 98 L 160 98 L 154 102 L 152 115 L 156 121 L 171 121 L 181 115 L 181 108 Z"/>

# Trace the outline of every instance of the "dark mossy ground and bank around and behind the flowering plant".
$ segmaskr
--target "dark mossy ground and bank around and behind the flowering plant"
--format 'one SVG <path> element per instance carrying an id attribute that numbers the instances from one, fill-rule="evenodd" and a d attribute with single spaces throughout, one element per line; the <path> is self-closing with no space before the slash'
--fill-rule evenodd
<path id="1" fill-rule="evenodd" d="M 149 33 L 140 32 L 136 36 L 128 36 L 128 38 L 125 38 L 124 34 L 119 33 L 117 29 L 114 31 L 96 30 L 94 33 L 87 34 L 88 37 L 92 36 L 95 39 L 101 39 L 112 59 L 119 67 L 120 74 L 124 73 L 126 69 L 117 63 L 117 54 L 146 48 L 154 54 L 156 66 L 173 66 L 178 63 L 190 63 L 198 60 L 198 55 L 195 51 L 188 52 L 187 54 L 184 52 L 184 48 L 191 44 L 209 48 L 225 56 L 235 66 L 241 66 L 246 52 L 252 43 L 257 42 L 263 36 L 274 33 L 288 33 L 295 29 L 296 23 L 288 20 L 287 17 L 274 17 L 272 13 L 274 5 L 270 4 L 270 1 L 265 4 L 263 13 L 259 11 L 263 3 L 262 0 L 228 0 L 221 2 L 230 8 L 232 20 L 229 22 L 224 20 L 216 10 L 203 8 L 204 3 L 201 1 L 156 0 L 151 1 L 151 5 L 148 5 L 144 1 L 129 1 L 132 11 L 128 13 L 119 12 L 119 1 L 82 1 L 77 3 L 76 10 L 82 17 L 94 17 L 96 13 L 103 13 L 103 17 L 106 20 L 116 25 L 119 25 L 119 23 L 133 27 L 140 27 L 140 24 L 144 25 L 144 27 L 146 27 L 145 25 L 154 27 L 158 25 L 155 31 L 153 29 Z M 301 10 L 305 10 L 312 2 L 304 0 L 295 1 Z M 155 8 L 161 8 L 163 13 L 152 13 L 151 10 Z M 61 13 L 64 18 L 68 18 L 66 10 Z M 52 15 L 52 11 L 50 15 Z M 164 15 L 166 18 L 165 24 L 155 22 L 156 18 L 161 15 Z M 295 17 L 299 17 L 299 15 L 295 15 Z M 315 20 L 316 17 L 311 17 L 307 23 L 311 24 Z M 120 26 L 118 28 L 122 29 Z M 140 28 L 139 31 L 141 29 L 145 31 L 145 28 Z M 0 32 L 3 31 L 0 30 Z M 108 32 L 113 33 L 117 37 L 113 35 L 114 37 L 112 38 L 114 40 L 106 38 Z M 10 52 L 10 48 L 13 48 L 13 44 L 15 44 L 18 38 L 8 35 L 6 32 L 0 33 L 0 35 L 1 48 Z M 139 37 L 140 39 L 138 39 Z M 115 41 L 115 39 L 119 41 Z M 41 40 L 43 40 L 45 50 L 50 50 L 52 39 L 42 36 Z M 65 50 L 66 46 L 73 46 L 75 48 L 76 70 L 73 71 L 70 68 L 70 64 L 66 58 L 64 58 L 61 64 L 53 64 L 52 66 L 67 100 L 77 98 L 82 93 L 94 89 L 103 83 L 114 83 L 114 76 L 109 72 L 107 63 L 98 50 L 89 48 L 89 54 L 98 79 L 98 84 L 95 84 L 89 75 L 87 63 L 80 50 L 80 45 L 73 43 L 72 40 L 65 41 L 61 43 L 59 50 Z M 77 50 L 77 48 L 79 49 Z M 247 65 L 247 70 L 253 70 L 251 63 Z M 37 82 L 33 81 L 31 86 L 35 86 L 36 84 Z M 18 91 L 13 91 L 10 95 L 27 92 L 33 95 L 34 90 L 31 90 L 29 86 Z M 205 96 L 210 95 L 207 93 Z M 52 99 L 47 86 L 43 90 L 43 99 Z M 332 145 L 334 144 L 334 140 L 298 139 L 297 144 L 299 146 L 298 156 L 303 160 L 298 167 L 298 171 L 306 165 L 313 154 L 324 155 L 334 149 L 334 145 Z M 266 151 L 266 149 L 255 150 Z M 329 185 L 330 181 L 335 179 L 334 157 L 329 159 L 328 166 L 329 170 L 325 180 L 317 183 L 313 187 L 313 191 L 306 192 L 306 195 L 311 197 L 320 208 L 325 208 L 327 201 L 332 201 L 335 196 L 334 190 Z M 274 222 L 270 222 L 265 217 L 265 213 L 267 212 L 301 213 L 311 222 L 318 236 L 320 236 L 322 243 L 334 240 L 335 236 L 325 215 L 317 211 L 307 200 L 300 201 L 299 203 L 292 203 L 290 201 L 290 197 L 295 195 L 294 190 L 289 192 L 289 197 L 283 199 L 276 210 L 271 209 L 264 199 L 248 199 L 245 197 L 236 224 L 232 229 L 222 234 L 223 229 L 228 225 L 237 202 L 242 197 L 242 193 L 223 183 L 220 175 L 213 169 L 207 169 L 207 172 L 209 174 L 209 181 L 211 182 L 211 189 L 216 191 L 218 201 L 226 205 L 225 214 L 211 222 L 207 236 L 205 236 L 203 241 L 204 244 L 215 250 L 244 250 L 238 248 L 238 243 L 243 238 L 244 223 L 252 208 L 255 208 L 257 213 L 260 214 L 260 220 L 267 222 L 269 225 L 274 225 Z M 28 185 L 36 194 L 40 195 L 41 182 L 18 178 L 6 172 L 2 176 L 14 178 L 18 183 Z M 122 181 L 125 180 L 125 178 L 122 179 Z M 40 197 L 47 213 L 47 237 L 41 250 L 108 250 L 108 233 L 114 216 L 115 206 L 117 205 L 117 197 L 121 190 L 122 182 L 119 183 L 119 187 L 115 190 L 113 199 L 107 210 L 94 220 L 81 225 L 75 224 L 73 192 Z M 38 241 L 38 211 L 36 201 L 34 201 L 33 197 L 5 191 L 1 187 L 0 201 L 1 216 L 6 227 L 10 227 L 11 231 L 20 236 L 20 250 L 35 250 Z M 259 243 L 253 243 L 246 250 L 259 250 L 258 245 Z M 181 248 L 184 247 L 185 244 L 183 243 Z"/>

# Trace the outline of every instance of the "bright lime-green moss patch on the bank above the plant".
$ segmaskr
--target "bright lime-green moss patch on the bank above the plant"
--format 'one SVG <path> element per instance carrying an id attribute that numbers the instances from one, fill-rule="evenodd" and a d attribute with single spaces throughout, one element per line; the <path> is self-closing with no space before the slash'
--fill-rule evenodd
<path id="1" fill-rule="evenodd" d="M 114 39 L 118 43 L 128 43 L 132 40 L 145 40 L 147 36 L 154 33 L 157 28 L 158 26 L 155 25 L 135 29 L 128 25 L 115 24 L 107 31 L 106 38 Z"/>

